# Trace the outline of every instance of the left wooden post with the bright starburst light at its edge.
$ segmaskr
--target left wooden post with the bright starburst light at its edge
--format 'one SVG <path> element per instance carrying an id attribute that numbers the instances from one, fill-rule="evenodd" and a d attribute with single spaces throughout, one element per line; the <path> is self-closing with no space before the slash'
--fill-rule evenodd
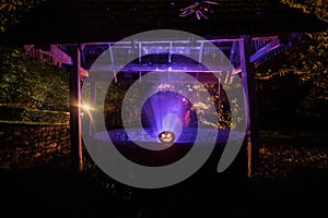
<path id="1" fill-rule="evenodd" d="M 70 136 L 72 167 L 75 171 L 83 170 L 82 134 L 81 134 L 81 56 L 78 46 L 69 46 L 68 53 L 72 58 L 73 65 L 70 68 Z"/>

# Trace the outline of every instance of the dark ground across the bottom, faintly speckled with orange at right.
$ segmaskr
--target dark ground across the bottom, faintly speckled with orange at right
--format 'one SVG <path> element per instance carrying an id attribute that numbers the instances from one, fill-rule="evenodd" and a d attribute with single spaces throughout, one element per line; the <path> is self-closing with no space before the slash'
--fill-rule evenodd
<path id="1" fill-rule="evenodd" d="M 1 210 L 11 217 L 318 217 L 328 194 L 327 132 L 260 134 L 251 179 L 136 190 L 74 174 L 67 156 L 47 166 L 0 171 Z M 216 183 L 218 182 L 218 183 Z M 218 185 L 220 183 L 220 185 Z"/>

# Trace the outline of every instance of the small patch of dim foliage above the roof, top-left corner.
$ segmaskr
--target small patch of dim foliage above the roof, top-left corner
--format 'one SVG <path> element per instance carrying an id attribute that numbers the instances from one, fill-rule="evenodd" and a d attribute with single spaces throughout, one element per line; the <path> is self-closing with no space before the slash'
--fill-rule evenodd
<path id="1" fill-rule="evenodd" d="M 1 0 L 0 1 L 0 33 L 9 26 L 19 23 L 31 9 L 47 0 Z"/>

